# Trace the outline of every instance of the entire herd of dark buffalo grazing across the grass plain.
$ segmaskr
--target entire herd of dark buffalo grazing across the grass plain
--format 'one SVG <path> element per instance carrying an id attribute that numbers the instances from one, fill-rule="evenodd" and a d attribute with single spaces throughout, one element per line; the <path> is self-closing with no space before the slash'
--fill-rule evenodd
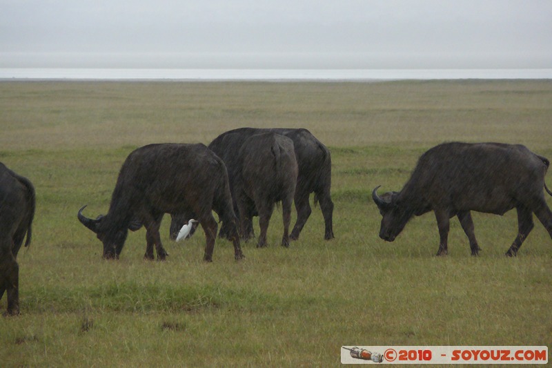
<path id="1" fill-rule="evenodd" d="M 413 216 L 435 213 L 440 234 L 437 255 L 448 252 L 449 220 L 458 217 L 471 254 L 480 247 L 471 211 L 502 215 L 517 210 L 518 233 L 506 255 L 515 256 L 533 229 L 533 213 L 552 238 L 552 211 L 544 183 L 549 160 L 524 146 L 496 143 L 445 143 L 426 151 L 400 192 L 377 194 L 373 202 L 382 215 L 380 238 L 393 242 Z M 168 253 L 159 226 L 172 217 L 170 237 L 196 219 L 205 233 L 204 260 L 213 260 L 217 231 L 233 242 L 236 260 L 244 258 L 241 240 L 255 237 L 253 217 L 259 216 L 257 246 L 266 246 L 266 231 L 275 204 L 282 203 L 282 246 L 297 240 L 311 215 L 314 193 L 324 217 L 324 239 L 333 235 L 331 155 L 306 129 L 239 128 L 209 144 L 150 144 L 126 158 L 112 193 L 108 213 L 78 220 L 103 244 L 103 258 L 119 258 L 128 230 L 146 228 L 144 258 Z M 297 220 L 289 232 L 292 202 Z M 8 294 L 8 315 L 19 313 L 17 253 L 30 244 L 34 217 L 34 187 L 0 163 L 0 298 Z M 217 213 L 217 220 L 213 217 Z"/>

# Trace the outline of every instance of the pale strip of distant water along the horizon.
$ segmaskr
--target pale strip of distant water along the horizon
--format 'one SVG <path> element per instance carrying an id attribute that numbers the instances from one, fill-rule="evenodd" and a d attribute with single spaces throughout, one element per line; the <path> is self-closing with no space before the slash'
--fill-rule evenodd
<path id="1" fill-rule="evenodd" d="M 64 69 L 0 68 L 0 79 L 376 81 L 402 79 L 552 79 L 552 69 Z"/>

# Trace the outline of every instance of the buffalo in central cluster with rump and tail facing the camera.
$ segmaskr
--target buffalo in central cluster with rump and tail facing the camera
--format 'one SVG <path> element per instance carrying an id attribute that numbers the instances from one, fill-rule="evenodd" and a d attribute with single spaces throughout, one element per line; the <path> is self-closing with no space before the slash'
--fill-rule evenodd
<path id="1" fill-rule="evenodd" d="M 282 245 L 289 246 L 291 205 L 297 184 L 297 160 L 293 141 L 268 132 L 248 137 L 237 155 L 234 195 L 239 209 L 242 235 L 253 231 L 251 219 L 259 214 L 261 234 L 257 247 L 266 246 L 266 230 L 274 204 L 282 201 L 284 235 Z"/>

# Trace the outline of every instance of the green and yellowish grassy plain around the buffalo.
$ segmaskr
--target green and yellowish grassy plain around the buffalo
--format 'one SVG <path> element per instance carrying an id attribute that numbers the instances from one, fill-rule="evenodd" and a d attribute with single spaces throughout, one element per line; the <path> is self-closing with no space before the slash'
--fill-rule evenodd
<path id="1" fill-rule="evenodd" d="M 552 159 L 552 81 L 1 81 L 0 126 L 0 162 L 37 191 L 18 257 L 21 316 L 0 318 L 3 367 L 331 367 L 342 345 L 552 346 L 552 240 L 540 222 L 511 259 L 515 211 L 474 214 L 477 258 L 453 220 L 437 258 L 431 213 L 386 243 L 370 199 L 380 184 L 400 190 L 441 142 L 520 143 Z M 267 249 L 242 244 L 235 262 L 217 240 L 206 264 L 204 236 L 171 242 L 166 217 L 166 262 L 142 259 L 144 229 L 119 261 L 101 259 L 77 210 L 108 211 L 128 153 L 241 126 L 308 128 L 331 149 L 335 240 L 313 209 L 283 249 L 277 210 Z"/>

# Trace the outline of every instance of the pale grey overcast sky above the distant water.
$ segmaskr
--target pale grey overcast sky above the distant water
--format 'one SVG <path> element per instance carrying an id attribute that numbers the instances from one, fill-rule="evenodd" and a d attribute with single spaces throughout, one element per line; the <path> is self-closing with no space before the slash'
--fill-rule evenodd
<path id="1" fill-rule="evenodd" d="M 552 0 L 0 0 L 0 68 L 552 68 Z"/>

